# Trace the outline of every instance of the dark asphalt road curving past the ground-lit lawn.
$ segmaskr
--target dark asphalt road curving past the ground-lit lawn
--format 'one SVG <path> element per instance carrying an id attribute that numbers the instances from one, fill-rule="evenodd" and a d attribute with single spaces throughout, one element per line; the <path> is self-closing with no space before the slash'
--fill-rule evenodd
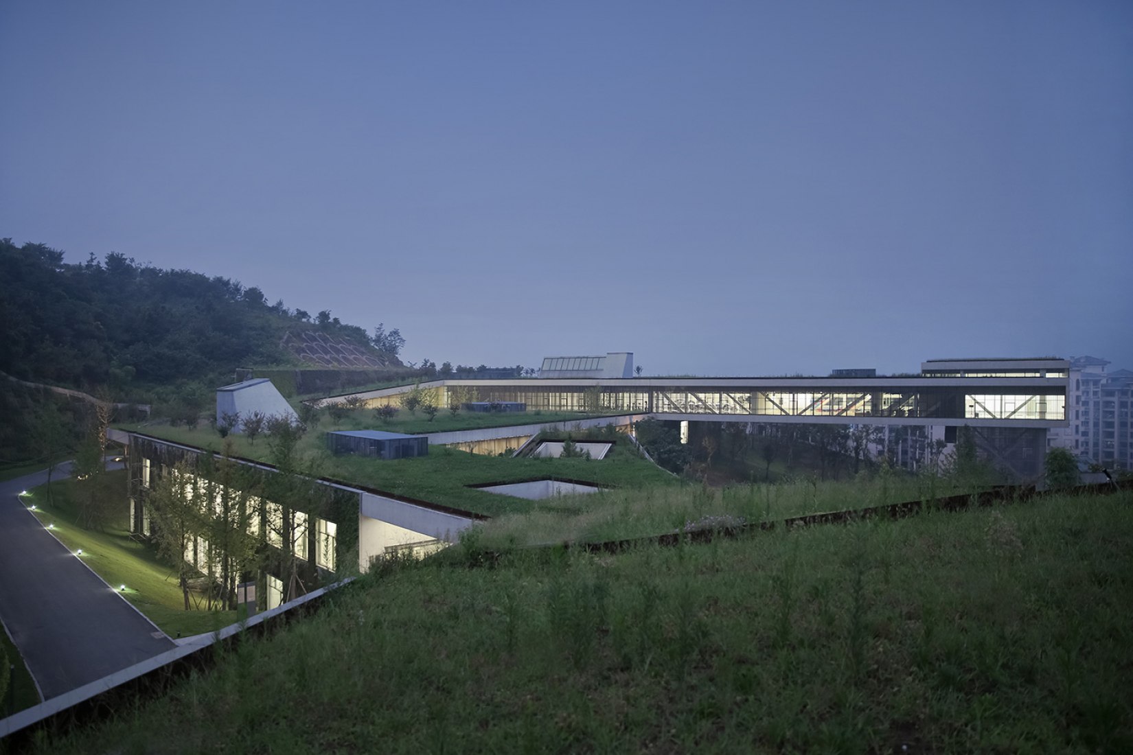
<path id="1" fill-rule="evenodd" d="M 46 480 L 39 472 L 0 482 L 0 618 L 44 698 L 176 646 L 25 509 L 19 491 Z"/>

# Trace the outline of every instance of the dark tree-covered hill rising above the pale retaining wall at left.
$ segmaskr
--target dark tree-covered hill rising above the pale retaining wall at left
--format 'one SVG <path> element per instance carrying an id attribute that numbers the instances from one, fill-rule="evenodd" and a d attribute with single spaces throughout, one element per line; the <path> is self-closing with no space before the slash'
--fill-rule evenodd
<path id="1" fill-rule="evenodd" d="M 366 331 L 330 311 L 312 321 L 229 278 L 159 269 L 116 252 L 66 264 L 50 247 L 0 239 L 0 370 L 19 378 L 104 386 L 117 395 L 223 380 L 239 366 L 295 363 L 280 343 L 303 331 L 383 353 Z M 400 346 L 400 334 L 391 333 Z M 400 366 L 397 348 L 383 359 Z"/>

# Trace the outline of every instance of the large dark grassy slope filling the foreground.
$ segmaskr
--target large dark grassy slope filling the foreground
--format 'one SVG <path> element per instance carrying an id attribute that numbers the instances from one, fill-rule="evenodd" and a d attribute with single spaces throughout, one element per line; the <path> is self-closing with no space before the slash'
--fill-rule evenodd
<path id="1" fill-rule="evenodd" d="M 426 561 L 44 752 L 1128 752 L 1131 504 Z"/>

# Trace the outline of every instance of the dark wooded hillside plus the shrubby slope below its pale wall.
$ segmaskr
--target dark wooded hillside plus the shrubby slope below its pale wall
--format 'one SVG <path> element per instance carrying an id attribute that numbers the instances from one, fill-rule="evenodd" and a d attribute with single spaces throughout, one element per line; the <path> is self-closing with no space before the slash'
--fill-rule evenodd
<path id="1" fill-rule="evenodd" d="M 282 301 L 269 304 L 257 288 L 116 252 L 67 264 L 62 251 L 42 243 L 0 239 L 0 372 L 154 404 L 155 413 L 207 410 L 213 391 L 231 383 L 237 367 L 295 364 L 280 345 L 289 332 L 324 333 L 401 366 L 403 340 L 395 329 L 378 328 L 370 338 L 330 311 L 313 318 Z M 44 460 L 48 446 L 60 454 L 74 449 L 90 422 L 84 402 L 2 376 L 0 413 L 0 469 Z M 53 437 L 37 437 L 46 426 Z"/>

